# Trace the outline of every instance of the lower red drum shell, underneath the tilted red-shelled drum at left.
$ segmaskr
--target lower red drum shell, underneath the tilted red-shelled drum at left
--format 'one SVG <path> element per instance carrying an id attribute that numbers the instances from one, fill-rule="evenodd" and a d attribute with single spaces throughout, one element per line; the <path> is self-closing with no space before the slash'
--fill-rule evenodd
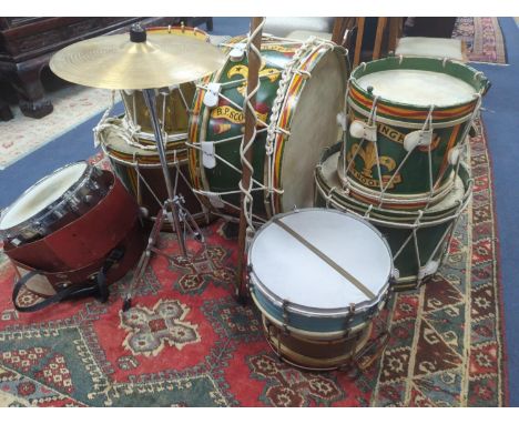
<path id="1" fill-rule="evenodd" d="M 122 279 L 133 267 L 133 265 L 139 261 L 139 258 L 141 256 L 144 248 L 146 246 L 146 234 L 143 231 L 140 220 L 135 218 L 132 228 L 124 236 L 124 239 L 120 241 L 116 246 L 113 246 L 123 248 L 124 256 L 106 273 L 106 284 L 112 284 Z M 104 261 L 105 258 L 101 258 L 93 263 L 74 270 L 67 270 L 61 272 L 42 272 L 41 270 L 37 270 L 11 259 L 11 263 L 17 269 L 19 276 L 21 276 L 20 269 L 22 269 L 27 272 L 35 271 L 40 273 L 41 276 L 47 279 L 47 287 L 44 285 L 31 285 L 30 282 L 28 282 L 26 285 L 27 290 L 40 297 L 52 296 L 54 294 L 53 292 L 59 292 L 70 284 L 84 284 L 91 276 L 95 275 L 100 271 L 104 264 Z"/>

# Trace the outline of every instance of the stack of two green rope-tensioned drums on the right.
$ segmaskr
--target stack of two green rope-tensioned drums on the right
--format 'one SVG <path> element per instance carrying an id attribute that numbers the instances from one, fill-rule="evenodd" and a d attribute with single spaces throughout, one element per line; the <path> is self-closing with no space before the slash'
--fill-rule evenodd
<path id="1" fill-rule="evenodd" d="M 489 82 L 462 63 L 387 58 L 352 72 L 345 139 L 315 172 L 316 205 L 350 211 L 388 240 L 396 289 L 440 265 L 472 189 L 467 139 Z"/>

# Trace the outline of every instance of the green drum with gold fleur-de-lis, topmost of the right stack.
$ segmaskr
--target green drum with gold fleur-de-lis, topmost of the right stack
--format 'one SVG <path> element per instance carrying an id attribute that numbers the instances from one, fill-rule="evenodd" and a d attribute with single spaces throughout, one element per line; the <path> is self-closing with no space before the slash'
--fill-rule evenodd
<path id="1" fill-rule="evenodd" d="M 356 68 L 338 161 L 352 196 L 398 210 L 441 201 L 489 85 L 481 72 L 450 60 L 393 57 Z"/>

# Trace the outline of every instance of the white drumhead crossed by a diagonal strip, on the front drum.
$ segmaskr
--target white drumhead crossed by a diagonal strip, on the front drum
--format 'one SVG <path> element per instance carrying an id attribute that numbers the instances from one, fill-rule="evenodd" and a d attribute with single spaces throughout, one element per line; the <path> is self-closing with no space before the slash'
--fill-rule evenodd
<path id="1" fill-rule="evenodd" d="M 388 244 L 367 222 L 325 209 L 302 210 L 278 219 L 375 296 L 380 294 L 391 274 L 393 259 Z M 256 234 L 248 261 L 255 283 L 289 303 L 329 310 L 369 300 L 350 280 L 273 221 Z"/>

